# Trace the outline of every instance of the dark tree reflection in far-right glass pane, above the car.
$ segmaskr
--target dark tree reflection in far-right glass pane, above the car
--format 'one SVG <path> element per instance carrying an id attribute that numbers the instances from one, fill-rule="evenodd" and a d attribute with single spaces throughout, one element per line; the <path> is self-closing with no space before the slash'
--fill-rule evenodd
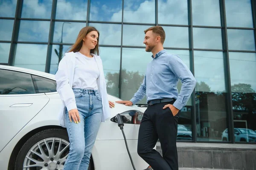
<path id="1" fill-rule="evenodd" d="M 234 84 L 232 101 L 235 120 L 247 120 L 247 128 L 256 130 L 256 92 L 250 84 Z"/>

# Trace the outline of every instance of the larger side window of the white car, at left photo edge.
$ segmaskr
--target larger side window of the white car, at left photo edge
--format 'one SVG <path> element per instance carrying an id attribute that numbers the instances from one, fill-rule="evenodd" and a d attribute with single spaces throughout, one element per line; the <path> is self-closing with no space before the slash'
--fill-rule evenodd
<path id="1" fill-rule="evenodd" d="M 35 94 L 30 74 L 0 69 L 0 95 Z"/>

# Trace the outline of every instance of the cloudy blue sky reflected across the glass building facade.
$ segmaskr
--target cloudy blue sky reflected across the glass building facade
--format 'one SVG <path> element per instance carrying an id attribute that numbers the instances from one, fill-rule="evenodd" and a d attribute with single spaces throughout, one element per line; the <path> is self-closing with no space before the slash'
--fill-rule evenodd
<path id="1" fill-rule="evenodd" d="M 14 17 L 17 0 L 0 1 L 0 17 Z M 227 26 L 253 27 L 250 0 L 225 0 Z M 51 17 L 52 0 L 23 0 L 22 17 Z M 87 0 L 58 0 L 56 19 L 84 20 L 82 22 L 64 23 L 63 43 L 74 43 L 81 28 L 86 26 Z M 192 0 L 192 22 L 200 26 L 221 26 L 218 0 Z M 90 20 L 122 20 L 122 0 L 91 0 Z M 124 46 L 144 46 L 144 30 L 155 23 L 155 0 L 124 0 L 124 22 L 145 23 L 148 25 L 90 23 L 100 32 L 100 45 L 120 45 L 123 36 Z M 187 0 L 158 0 L 158 23 L 188 25 Z M 0 40 L 11 40 L 13 20 L 0 20 Z M 53 42 L 61 42 L 63 22 L 55 22 Z M 18 41 L 48 42 L 49 21 L 21 20 Z M 188 27 L 163 26 L 166 32 L 164 47 L 189 48 Z M 229 49 L 255 50 L 253 30 L 228 29 Z M 221 29 L 193 28 L 193 44 L 198 49 L 222 49 Z M 0 43 L 0 62 L 8 61 L 10 43 Z M 69 46 L 64 46 L 63 52 Z M 58 57 L 52 46 L 52 63 L 50 72 L 54 73 Z M 29 49 L 29 50 L 27 50 Z M 101 58 L 107 72 L 119 72 L 120 48 L 101 47 Z M 186 50 L 169 50 L 181 56 L 189 66 L 189 52 Z M 47 45 L 18 44 L 15 65 L 44 71 Z M 2 57 L 4 56 L 4 57 Z M 36 60 L 35 60 L 36 58 Z M 122 68 L 145 74 L 145 68 L 151 61 L 151 53 L 145 49 L 122 49 Z M 195 78 L 204 81 L 212 92 L 226 90 L 224 76 L 224 59 L 222 52 L 194 52 Z M 250 66 L 250 67 L 248 67 Z M 231 84 L 251 84 L 256 91 L 256 56 L 255 53 L 230 53 Z M 200 89 L 199 89 L 200 90 Z"/>

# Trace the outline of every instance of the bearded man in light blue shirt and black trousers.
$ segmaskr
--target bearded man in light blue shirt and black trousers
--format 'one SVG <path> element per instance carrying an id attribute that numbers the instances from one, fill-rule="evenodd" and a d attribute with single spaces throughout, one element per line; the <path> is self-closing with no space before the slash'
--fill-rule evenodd
<path id="1" fill-rule="evenodd" d="M 145 31 L 146 52 L 152 52 L 143 83 L 130 101 L 116 101 L 126 106 L 136 104 L 146 95 L 148 108 L 142 118 L 137 152 L 154 170 L 178 170 L 176 147 L 179 110 L 186 105 L 195 88 L 195 78 L 177 56 L 163 49 L 165 32 L 161 26 Z M 178 79 L 182 86 L 177 91 Z M 163 157 L 154 150 L 159 138 Z"/>

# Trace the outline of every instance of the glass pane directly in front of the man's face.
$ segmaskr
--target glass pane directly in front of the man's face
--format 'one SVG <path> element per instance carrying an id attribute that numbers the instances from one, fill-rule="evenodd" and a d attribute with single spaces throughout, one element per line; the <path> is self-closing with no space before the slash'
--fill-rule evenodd
<path id="1" fill-rule="evenodd" d="M 143 44 L 144 31 L 151 26 L 123 25 L 123 45 L 124 46 L 145 46 Z"/>

